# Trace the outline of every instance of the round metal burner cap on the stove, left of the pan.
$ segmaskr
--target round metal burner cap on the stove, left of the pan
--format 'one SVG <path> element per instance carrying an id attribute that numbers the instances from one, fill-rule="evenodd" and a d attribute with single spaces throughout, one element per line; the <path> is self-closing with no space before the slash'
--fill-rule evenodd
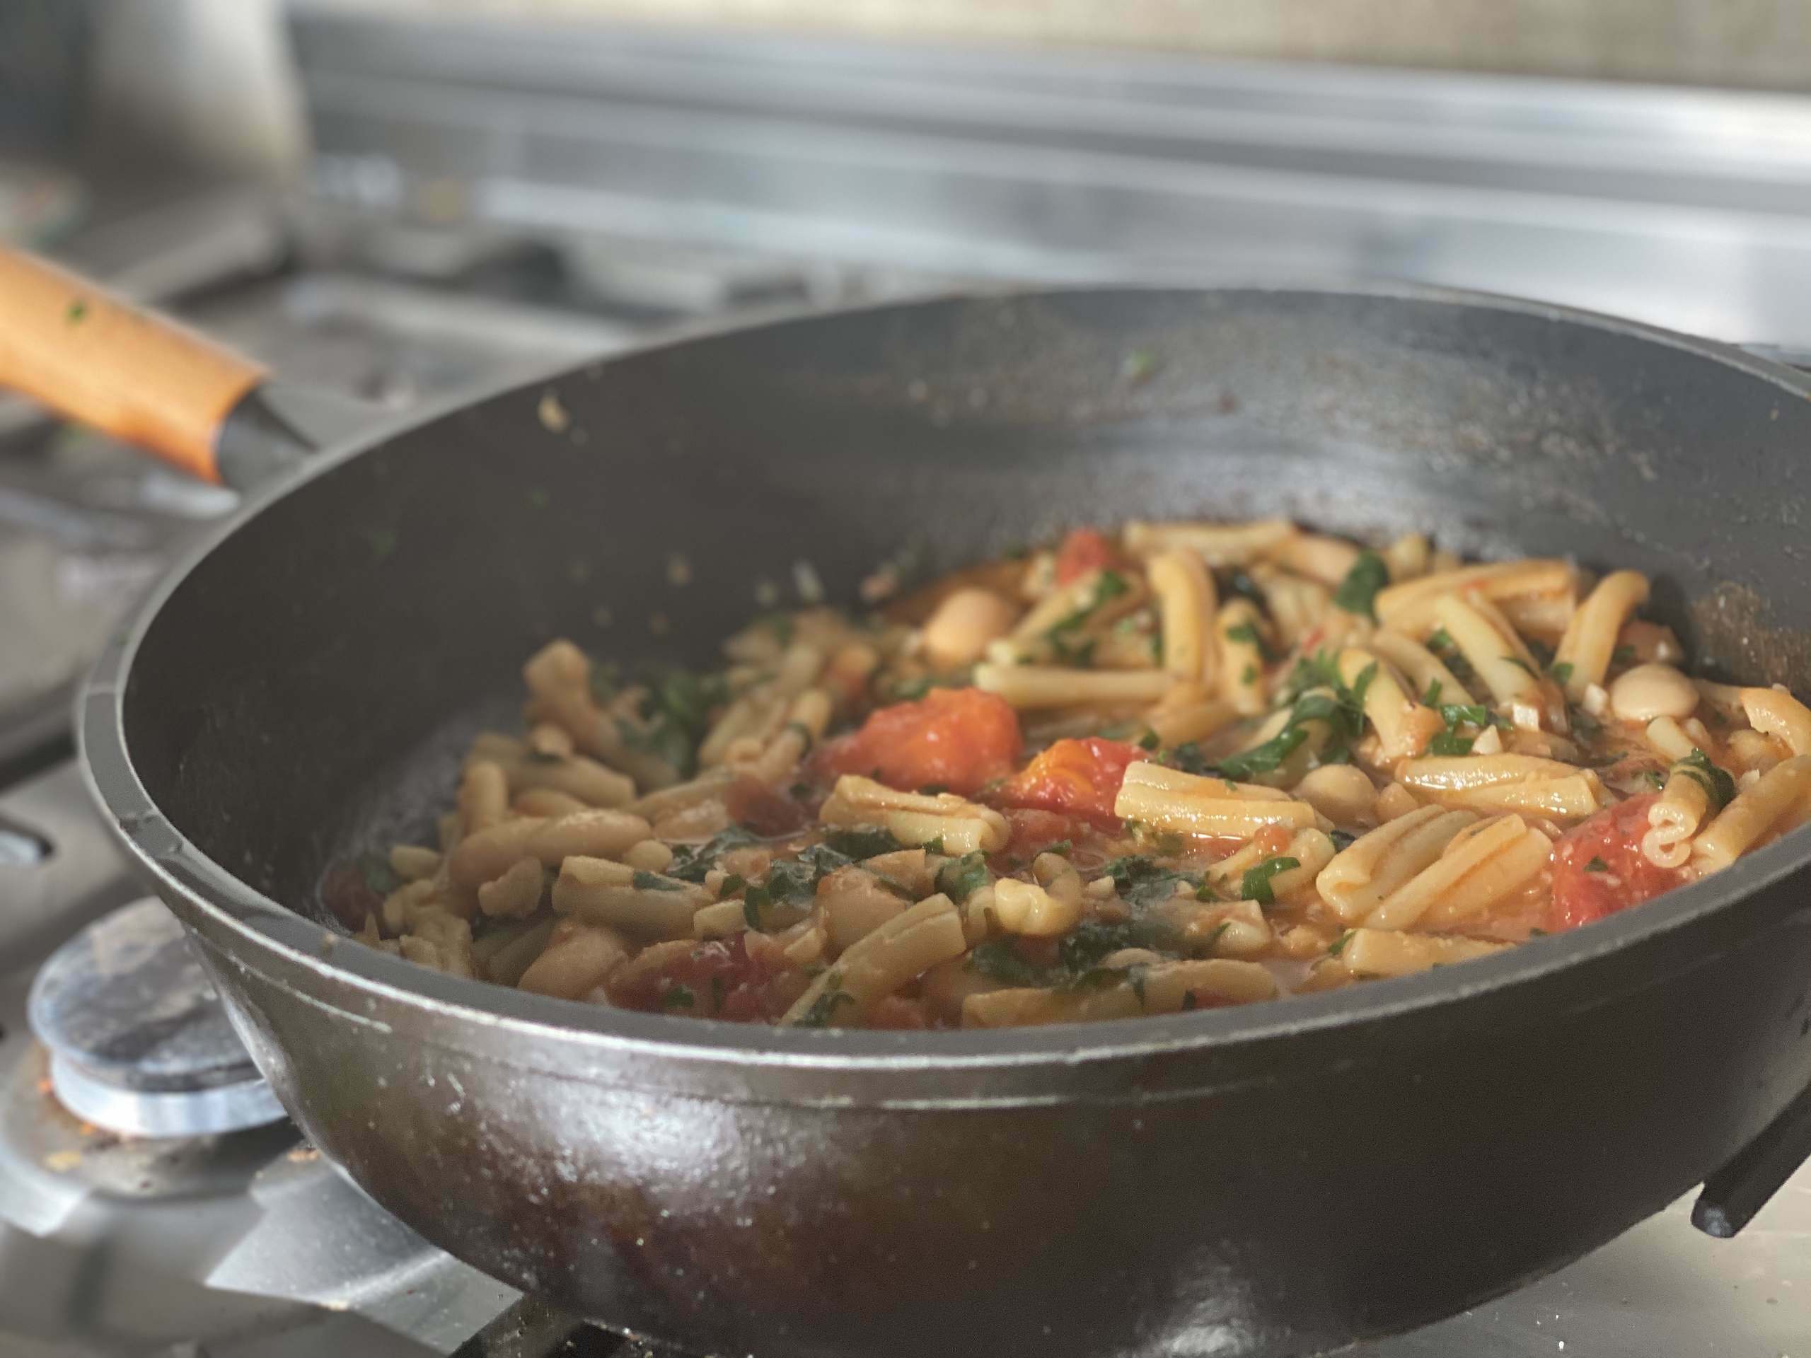
<path id="1" fill-rule="evenodd" d="M 51 1088 L 76 1117 L 141 1137 L 239 1132 L 284 1117 L 183 925 L 147 898 L 63 943 L 31 983 Z"/>

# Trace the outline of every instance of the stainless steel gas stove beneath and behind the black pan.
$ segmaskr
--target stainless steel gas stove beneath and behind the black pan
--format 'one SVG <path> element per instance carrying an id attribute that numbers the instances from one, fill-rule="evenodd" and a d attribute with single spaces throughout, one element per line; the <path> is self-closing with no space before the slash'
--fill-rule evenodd
<path id="1" fill-rule="evenodd" d="M 391 411 L 775 306 L 1199 277 L 1204 243 L 1217 270 L 1333 264 L 1807 339 L 1782 326 L 1811 297 L 1787 194 L 1811 177 L 1811 114 L 1778 101 L 828 43 L 730 62 L 672 34 L 344 14 L 304 14 L 295 38 L 304 201 L 176 196 L 67 253 L 292 382 Z M 1706 118 L 1668 141 L 1681 109 Z M 516 139 L 469 136 L 474 118 Z M 1563 183 L 1534 183 L 1561 145 Z M 1154 176 L 1159 156 L 1186 165 Z M 1635 286 L 1655 272 L 1664 297 Z M 435 1249 L 308 1146 L 94 817 L 71 688 L 232 505 L 0 398 L 0 1353 L 657 1354 Z M 1811 1168 L 1733 1240 L 1690 1215 L 1349 1353 L 1811 1354 Z"/>

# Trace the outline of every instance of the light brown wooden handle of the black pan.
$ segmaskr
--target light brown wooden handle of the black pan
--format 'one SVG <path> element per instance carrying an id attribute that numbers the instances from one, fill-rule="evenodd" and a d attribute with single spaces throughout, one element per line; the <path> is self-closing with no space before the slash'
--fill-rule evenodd
<path id="1" fill-rule="evenodd" d="M 263 380 L 168 317 L 0 246 L 0 386 L 217 482 L 221 422 Z"/>

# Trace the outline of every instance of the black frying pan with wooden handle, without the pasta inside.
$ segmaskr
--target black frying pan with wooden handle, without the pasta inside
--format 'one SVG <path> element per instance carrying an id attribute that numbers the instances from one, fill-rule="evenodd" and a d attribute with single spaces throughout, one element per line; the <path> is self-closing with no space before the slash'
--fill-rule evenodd
<path id="1" fill-rule="evenodd" d="M 0 297 L 0 377 L 208 474 L 293 453 L 255 369 L 16 259 Z M 1557 1267 L 1731 1161 L 1706 1217 L 1740 1224 L 1804 1150 L 1811 837 L 1463 967 L 1007 1032 L 491 989 L 344 938 L 322 869 L 422 833 L 551 636 L 697 663 L 797 561 L 853 598 L 886 558 L 1074 521 L 1293 514 L 1628 565 L 1701 666 L 1804 692 L 1807 447 L 1786 368 L 1456 292 L 819 315 L 284 473 L 125 626 L 80 735 L 284 1106 L 487 1273 L 762 1358 L 1315 1353 Z"/>

